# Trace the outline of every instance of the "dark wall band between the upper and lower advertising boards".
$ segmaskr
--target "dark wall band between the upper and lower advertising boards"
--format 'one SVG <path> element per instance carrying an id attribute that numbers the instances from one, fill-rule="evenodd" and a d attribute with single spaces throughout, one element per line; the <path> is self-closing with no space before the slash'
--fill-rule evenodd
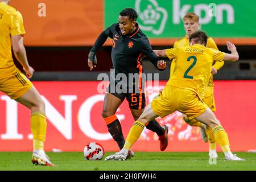
<path id="1" fill-rule="evenodd" d="M 171 46 L 172 47 L 172 46 Z M 109 72 L 112 68 L 111 49 L 102 47 L 97 52 L 98 64 L 93 72 L 87 65 L 88 53 L 91 47 L 26 47 L 28 61 L 35 69 L 32 80 L 97 80 L 98 73 Z M 152 47 L 153 49 L 165 49 L 169 46 Z M 226 46 L 218 46 L 220 51 L 229 52 Z M 237 63 L 225 63 L 215 76 L 217 80 L 256 80 L 256 46 L 237 46 L 240 53 L 240 61 Z M 168 59 L 166 59 L 168 61 Z M 20 68 L 21 66 L 15 64 Z M 143 60 L 145 72 L 158 72 L 154 66 Z M 161 80 L 168 79 L 170 61 L 164 74 L 160 74 Z"/>

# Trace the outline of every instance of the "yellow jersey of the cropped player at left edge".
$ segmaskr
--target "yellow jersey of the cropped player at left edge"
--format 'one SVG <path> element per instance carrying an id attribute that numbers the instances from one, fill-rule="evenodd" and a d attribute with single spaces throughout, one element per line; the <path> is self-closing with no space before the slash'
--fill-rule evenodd
<path id="1" fill-rule="evenodd" d="M 0 2 L 0 77 L 15 71 L 11 53 L 11 36 L 26 34 L 22 15 L 13 7 Z"/>

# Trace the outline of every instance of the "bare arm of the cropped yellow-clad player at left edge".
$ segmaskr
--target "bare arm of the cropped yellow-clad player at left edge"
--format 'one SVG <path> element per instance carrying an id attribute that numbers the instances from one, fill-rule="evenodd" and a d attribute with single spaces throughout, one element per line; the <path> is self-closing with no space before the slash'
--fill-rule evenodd
<path id="1" fill-rule="evenodd" d="M 11 37 L 11 43 L 13 44 L 13 52 L 16 59 L 22 65 L 23 70 L 26 72 L 28 78 L 31 78 L 34 69 L 30 67 L 27 61 L 26 49 L 23 44 L 23 36 L 22 35 L 14 35 Z"/>

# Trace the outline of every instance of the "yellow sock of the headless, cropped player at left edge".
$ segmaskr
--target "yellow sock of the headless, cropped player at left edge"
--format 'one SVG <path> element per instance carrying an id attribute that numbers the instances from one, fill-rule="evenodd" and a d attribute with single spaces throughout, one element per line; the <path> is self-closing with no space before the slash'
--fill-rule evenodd
<path id="1" fill-rule="evenodd" d="M 30 127 L 33 134 L 34 150 L 43 150 L 46 140 L 46 116 L 42 112 L 31 114 Z"/>

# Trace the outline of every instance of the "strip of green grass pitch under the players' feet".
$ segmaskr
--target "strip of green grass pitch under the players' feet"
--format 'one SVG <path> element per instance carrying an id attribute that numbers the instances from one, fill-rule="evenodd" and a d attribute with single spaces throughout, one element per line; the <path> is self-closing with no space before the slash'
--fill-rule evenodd
<path id="1" fill-rule="evenodd" d="M 135 152 L 133 159 L 86 161 L 82 152 L 47 152 L 55 167 L 35 166 L 31 152 L 0 152 L 0 170 L 86 170 L 86 171 L 171 171 L 171 170 L 256 170 L 256 153 L 236 152 L 245 162 L 225 161 L 218 152 L 217 164 L 210 165 L 207 152 Z"/>

